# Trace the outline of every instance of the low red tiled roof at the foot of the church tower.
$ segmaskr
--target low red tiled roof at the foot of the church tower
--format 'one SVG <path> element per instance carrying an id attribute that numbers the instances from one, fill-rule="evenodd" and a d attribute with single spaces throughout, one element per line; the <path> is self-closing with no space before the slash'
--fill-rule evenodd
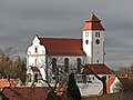
<path id="1" fill-rule="evenodd" d="M 86 64 L 98 74 L 111 74 L 111 70 L 105 64 Z M 89 69 L 84 69 L 84 72 L 89 72 Z"/>

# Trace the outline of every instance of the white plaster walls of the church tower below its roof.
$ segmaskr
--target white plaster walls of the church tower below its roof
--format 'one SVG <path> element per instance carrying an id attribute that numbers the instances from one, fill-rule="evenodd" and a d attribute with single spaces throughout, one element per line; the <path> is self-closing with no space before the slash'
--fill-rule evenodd
<path id="1" fill-rule="evenodd" d="M 95 32 L 100 32 L 100 37 L 95 37 Z M 86 33 L 89 36 L 86 37 Z M 86 53 L 88 63 L 104 63 L 104 31 L 83 31 L 82 33 L 83 50 Z M 95 40 L 100 40 L 100 44 L 95 43 Z M 86 44 L 85 41 L 89 40 Z"/>

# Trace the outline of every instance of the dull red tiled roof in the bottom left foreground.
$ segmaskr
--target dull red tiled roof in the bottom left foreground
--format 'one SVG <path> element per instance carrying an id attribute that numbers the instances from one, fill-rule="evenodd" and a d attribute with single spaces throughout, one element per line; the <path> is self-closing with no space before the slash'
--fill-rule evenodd
<path id="1" fill-rule="evenodd" d="M 45 100 L 50 89 L 48 87 L 7 88 L 3 94 L 10 100 Z"/>

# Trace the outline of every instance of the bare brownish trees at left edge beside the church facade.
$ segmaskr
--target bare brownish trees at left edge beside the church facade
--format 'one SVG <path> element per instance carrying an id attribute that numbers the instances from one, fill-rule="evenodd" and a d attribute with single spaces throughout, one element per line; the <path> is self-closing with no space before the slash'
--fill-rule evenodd
<path id="1" fill-rule="evenodd" d="M 20 78 L 25 80 L 25 63 L 11 47 L 0 49 L 1 78 Z"/>

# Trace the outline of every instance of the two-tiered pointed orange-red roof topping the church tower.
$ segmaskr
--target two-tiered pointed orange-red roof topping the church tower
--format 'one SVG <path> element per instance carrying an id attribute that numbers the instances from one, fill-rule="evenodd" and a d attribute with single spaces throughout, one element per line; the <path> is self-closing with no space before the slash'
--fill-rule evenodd
<path id="1" fill-rule="evenodd" d="M 101 20 L 92 12 L 91 17 L 85 21 L 85 26 L 82 31 L 86 30 L 104 30 Z"/>

